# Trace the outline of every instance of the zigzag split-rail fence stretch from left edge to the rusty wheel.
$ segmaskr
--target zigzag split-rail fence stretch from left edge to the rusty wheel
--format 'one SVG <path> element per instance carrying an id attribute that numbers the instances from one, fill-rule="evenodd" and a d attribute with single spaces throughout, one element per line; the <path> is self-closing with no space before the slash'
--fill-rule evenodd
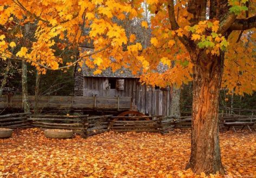
<path id="1" fill-rule="evenodd" d="M 31 113 L 17 113 L 0 115 L 0 127 L 24 128 L 41 127 L 72 129 L 82 136 L 90 136 L 108 131 L 109 118 L 112 115 L 31 115 Z"/>

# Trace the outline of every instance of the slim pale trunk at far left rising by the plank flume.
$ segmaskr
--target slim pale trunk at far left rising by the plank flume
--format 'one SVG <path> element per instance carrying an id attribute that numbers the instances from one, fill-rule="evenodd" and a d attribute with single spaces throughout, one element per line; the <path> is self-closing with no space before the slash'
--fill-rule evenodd
<path id="1" fill-rule="evenodd" d="M 22 104 L 25 113 L 30 112 L 29 102 L 28 102 L 28 85 L 27 85 L 27 64 L 22 60 L 22 75 L 21 75 L 21 83 L 22 83 Z"/>

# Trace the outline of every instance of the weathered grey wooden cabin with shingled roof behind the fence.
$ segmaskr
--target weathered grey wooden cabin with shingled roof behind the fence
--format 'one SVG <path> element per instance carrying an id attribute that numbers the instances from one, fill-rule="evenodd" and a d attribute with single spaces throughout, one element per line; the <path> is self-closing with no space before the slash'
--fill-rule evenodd
<path id="1" fill-rule="evenodd" d="M 81 70 L 79 70 L 81 68 Z M 160 65 L 159 70 L 164 70 Z M 85 64 L 75 66 L 74 94 L 85 97 L 131 97 L 131 109 L 146 115 L 170 115 L 170 88 L 142 85 L 130 70 L 110 68 L 94 75 Z"/>

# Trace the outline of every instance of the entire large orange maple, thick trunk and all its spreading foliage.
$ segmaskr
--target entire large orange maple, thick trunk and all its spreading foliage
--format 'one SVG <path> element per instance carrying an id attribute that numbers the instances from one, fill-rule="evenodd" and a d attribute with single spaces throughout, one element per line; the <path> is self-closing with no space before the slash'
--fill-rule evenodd
<path id="1" fill-rule="evenodd" d="M 126 34 L 116 23 L 141 17 L 143 1 L 24 1 L 0 2 L 0 55 L 5 60 L 27 60 L 41 73 L 75 64 L 121 66 L 133 73 L 141 70 L 147 84 L 166 86 L 193 81 L 193 129 L 187 168 L 195 173 L 223 173 L 217 111 L 222 87 L 235 93 L 252 93 L 255 84 L 255 1 L 251 0 L 147 0 L 153 14 L 151 46 L 143 49 L 135 34 Z M 24 44 L 25 24 L 35 24 L 31 46 Z M 56 38 L 61 42 L 57 42 Z M 78 56 L 79 46 L 92 43 L 94 51 Z M 72 61 L 62 64 L 60 50 L 74 50 Z M 12 53 L 11 49 L 17 52 Z M 124 50 L 125 49 L 125 50 Z M 88 57 L 92 56 L 92 61 Z M 110 56 L 115 60 L 110 60 Z M 81 60 L 84 59 L 84 60 Z M 169 66 L 156 73 L 159 62 Z M 231 91 L 231 90 L 229 90 Z"/>

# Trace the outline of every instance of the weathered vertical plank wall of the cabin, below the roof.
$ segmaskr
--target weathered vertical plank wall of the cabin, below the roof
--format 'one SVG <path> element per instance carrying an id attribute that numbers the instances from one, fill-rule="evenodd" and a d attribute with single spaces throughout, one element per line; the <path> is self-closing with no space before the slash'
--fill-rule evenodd
<path id="1" fill-rule="evenodd" d="M 118 78 L 116 78 L 118 79 Z M 131 97 L 132 109 L 148 115 L 170 115 L 170 90 L 155 90 L 141 85 L 138 78 L 124 78 L 124 90 L 108 88 L 108 78 L 85 77 L 85 97 Z"/>

